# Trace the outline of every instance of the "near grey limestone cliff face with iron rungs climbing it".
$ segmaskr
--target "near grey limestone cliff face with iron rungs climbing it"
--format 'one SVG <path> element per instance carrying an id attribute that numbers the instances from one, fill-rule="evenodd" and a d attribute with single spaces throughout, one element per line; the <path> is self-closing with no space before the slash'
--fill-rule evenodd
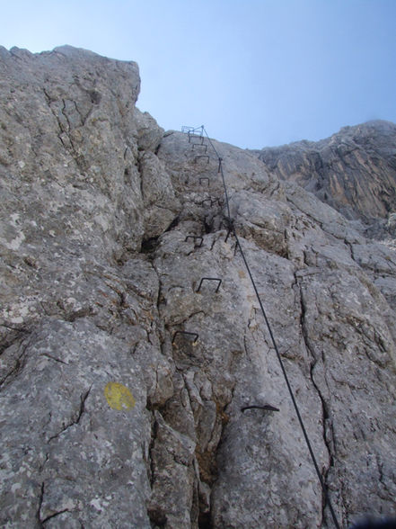
<path id="1" fill-rule="evenodd" d="M 211 144 L 136 109 L 135 63 L 0 57 L 1 525 L 331 527 Z M 293 146 L 212 140 L 341 526 L 396 507 L 395 128 L 373 128 L 376 158 L 331 151 L 328 203 L 279 169 Z"/>

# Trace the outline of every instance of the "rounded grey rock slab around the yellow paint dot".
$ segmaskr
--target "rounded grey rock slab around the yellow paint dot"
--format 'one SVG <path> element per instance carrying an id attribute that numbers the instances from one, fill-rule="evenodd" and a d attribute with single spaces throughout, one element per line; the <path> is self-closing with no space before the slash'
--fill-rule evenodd
<path id="1" fill-rule="evenodd" d="M 13 345 L 15 347 L 15 345 Z M 2 525 L 149 526 L 146 390 L 128 343 L 88 318 L 43 321 L 17 349 L 2 407 Z M 103 399 L 122 381 L 136 409 Z M 129 504 L 134 504 L 133 513 Z M 55 525 L 54 525 L 55 523 Z"/>

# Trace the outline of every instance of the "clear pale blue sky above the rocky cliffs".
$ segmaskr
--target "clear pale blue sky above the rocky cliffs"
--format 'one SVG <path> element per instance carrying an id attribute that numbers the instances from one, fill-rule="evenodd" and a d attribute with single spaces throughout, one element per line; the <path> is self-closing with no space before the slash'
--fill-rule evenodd
<path id="1" fill-rule="evenodd" d="M 0 44 L 135 60 L 137 106 L 242 148 L 396 122 L 396 0 L 14 0 Z"/>

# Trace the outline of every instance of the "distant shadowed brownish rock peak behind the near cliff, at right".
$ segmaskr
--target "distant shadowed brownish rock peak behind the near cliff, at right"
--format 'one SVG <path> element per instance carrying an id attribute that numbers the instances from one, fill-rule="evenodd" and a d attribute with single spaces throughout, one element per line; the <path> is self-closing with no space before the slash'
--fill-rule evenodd
<path id="1" fill-rule="evenodd" d="M 390 121 L 254 152 L 278 178 L 303 186 L 348 219 L 373 222 L 396 210 L 396 125 Z"/>

